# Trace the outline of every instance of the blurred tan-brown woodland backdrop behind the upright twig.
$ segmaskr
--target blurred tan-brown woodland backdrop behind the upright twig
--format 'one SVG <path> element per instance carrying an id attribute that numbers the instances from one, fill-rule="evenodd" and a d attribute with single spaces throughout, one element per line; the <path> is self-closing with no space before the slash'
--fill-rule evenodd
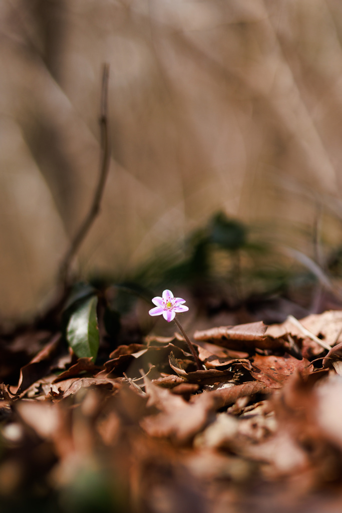
<path id="1" fill-rule="evenodd" d="M 217 212 L 313 259 L 319 226 L 338 250 L 337 0 L 3 0 L 0 37 L 3 319 L 42 308 L 92 200 L 105 62 L 111 166 L 82 276 L 124 279 Z"/>

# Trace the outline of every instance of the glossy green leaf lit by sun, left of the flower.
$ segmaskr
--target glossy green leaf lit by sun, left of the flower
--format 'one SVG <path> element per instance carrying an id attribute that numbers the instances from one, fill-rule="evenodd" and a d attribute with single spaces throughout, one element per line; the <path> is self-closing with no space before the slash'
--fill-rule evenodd
<path id="1" fill-rule="evenodd" d="M 97 296 L 94 295 L 82 303 L 70 317 L 67 341 L 78 358 L 96 358 L 99 344 L 96 306 Z"/>

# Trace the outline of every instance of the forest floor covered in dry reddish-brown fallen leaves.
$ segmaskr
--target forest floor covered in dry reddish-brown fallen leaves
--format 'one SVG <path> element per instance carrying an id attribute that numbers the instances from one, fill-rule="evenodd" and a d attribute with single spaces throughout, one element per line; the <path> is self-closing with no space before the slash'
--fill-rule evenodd
<path id="1" fill-rule="evenodd" d="M 99 299 L 96 360 L 68 346 L 60 307 L 2 330 L 1 511 L 340 511 L 342 310 L 198 313 L 196 366 L 176 325 L 139 327 L 150 307 L 109 334 Z"/>

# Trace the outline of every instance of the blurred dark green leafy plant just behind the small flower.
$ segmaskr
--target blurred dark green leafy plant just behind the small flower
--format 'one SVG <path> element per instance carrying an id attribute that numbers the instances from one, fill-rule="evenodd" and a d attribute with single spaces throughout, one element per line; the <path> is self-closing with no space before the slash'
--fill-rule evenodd
<path id="1" fill-rule="evenodd" d="M 194 231 L 183 248 L 170 251 L 161 249 L 142 266 L 132 278 L 145 287 L 171 287 L 173 285 L 202 285 L 225 283 L 240 289 L 244 282 L 251 290 L 251 274 L 259 272 L 263 261 L 270 259 L 270 246 L 266 242 L 252 241 L 248 227 L 224 213 L 216 213 L 208 224 Z M 284 283 L 284 268 L 273 265 L 264 279 L 270 283 L 266 289 Z"/>

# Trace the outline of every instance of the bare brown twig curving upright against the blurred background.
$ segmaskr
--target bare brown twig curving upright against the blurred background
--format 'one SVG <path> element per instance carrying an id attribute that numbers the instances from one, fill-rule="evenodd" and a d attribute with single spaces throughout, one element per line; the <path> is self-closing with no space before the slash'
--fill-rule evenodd
<path id="1" fill-rule="evenodd" d="M 65 286 L 68 283 L 70 265 L 72 260 L 82 242 L 85 239 L 91 225 L 93 224 L 99 210 L 100 204 L 105 189 L 106 179 L 109 171 L 110 164 L 110 144 L 109 144 L 109 130 L 108 130 L 108 78 L 109 78 L 109 65 L 105 64 L 102 73 L 102 91 L 100 100 L 100 138 L 101 138 L 101 154 L 100 154 L 100 172 L 98 177 L 97 186 L 95 189 L 92 204 L 89 212 L 87 213 L 84 221 L 76 232 L 73 240 L 70 243 L 68 251 L 62 260 L 59 267 L 59 281 Z"/>

